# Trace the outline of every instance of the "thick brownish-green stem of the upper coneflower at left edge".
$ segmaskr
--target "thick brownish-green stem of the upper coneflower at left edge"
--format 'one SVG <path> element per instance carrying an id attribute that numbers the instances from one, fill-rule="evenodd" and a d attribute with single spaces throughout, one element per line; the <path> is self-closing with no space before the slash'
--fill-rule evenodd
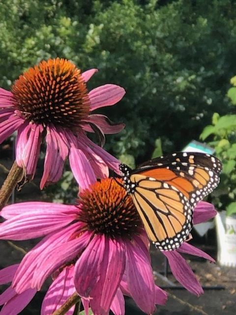
<path id="1" fill-rule="evenodd" d="M 17 163 L 14 162 L 0 189 L 0 210 L 7 203 L 12 191 L 15 189 L 17 183 L 22 180 L 22 177 L 23 168 L 19 167 Z"/>

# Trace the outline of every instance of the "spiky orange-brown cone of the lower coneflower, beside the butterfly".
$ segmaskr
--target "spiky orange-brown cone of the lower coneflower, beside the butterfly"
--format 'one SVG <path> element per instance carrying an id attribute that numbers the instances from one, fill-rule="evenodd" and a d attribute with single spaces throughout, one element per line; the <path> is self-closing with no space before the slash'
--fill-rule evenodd
<path id="1" fill-rule="evenodd" d="M 121 183 L 120 179 L 117 179 Z M 142 223 L 131 197 L 113 178 L 95 183 L 80 194 L 82 212 L 79 220 L 95 233 L 131 238 Z"/>

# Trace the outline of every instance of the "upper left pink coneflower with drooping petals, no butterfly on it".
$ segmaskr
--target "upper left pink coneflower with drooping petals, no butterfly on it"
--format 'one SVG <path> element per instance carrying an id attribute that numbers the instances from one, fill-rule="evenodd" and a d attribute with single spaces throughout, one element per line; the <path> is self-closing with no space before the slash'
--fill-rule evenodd
<path id="1" fill-rule="evenodd" d="M 96 177 L 108 176 L 108 166 L 118 170 L 118 160 L 90 141 L 86 131 L 96 132 L 104 142 L 104 133 L 123 129 L 124 124 L 90 112 L 116 104 L 125 91 L 106 84 L 88 92 L 86 82 L 96 71 L 81 73 L 70 61 L 50 59 L 24 72 L 11 92 L 0 89 L 0 143 L 18 131 L 16 162 L 29 178 L 46 140 L 41 189 L 59 180 L 67 156 L 81 187 L 88 174 L 95 182 Z"/>

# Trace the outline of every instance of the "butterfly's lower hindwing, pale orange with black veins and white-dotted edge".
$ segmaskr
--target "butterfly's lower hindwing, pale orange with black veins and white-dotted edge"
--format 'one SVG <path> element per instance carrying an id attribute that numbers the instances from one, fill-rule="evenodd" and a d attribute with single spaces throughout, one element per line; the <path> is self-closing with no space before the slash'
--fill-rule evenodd
<path id="1" fill-rule="evenodd" d="M 175 186 L 140 174 L 130 176 L 134 183 L 133 202 L 150 240 L 160 250 L 175 250 L 192 228 L 192 205 Z"/>

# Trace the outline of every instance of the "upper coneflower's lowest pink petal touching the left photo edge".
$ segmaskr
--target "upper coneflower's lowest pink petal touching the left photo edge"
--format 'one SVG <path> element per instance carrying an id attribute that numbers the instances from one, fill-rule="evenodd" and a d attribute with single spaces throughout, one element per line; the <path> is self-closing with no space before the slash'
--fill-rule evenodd
<path id="1" fill-rule="evenodd" d="M 24 123 L 24 120 L 19 118 L 13 113 L 2 113 L 4 120 L 0 123 L 0 143 L 8 138 L 14 131 L 16 131 L 19 126 Z"/>

